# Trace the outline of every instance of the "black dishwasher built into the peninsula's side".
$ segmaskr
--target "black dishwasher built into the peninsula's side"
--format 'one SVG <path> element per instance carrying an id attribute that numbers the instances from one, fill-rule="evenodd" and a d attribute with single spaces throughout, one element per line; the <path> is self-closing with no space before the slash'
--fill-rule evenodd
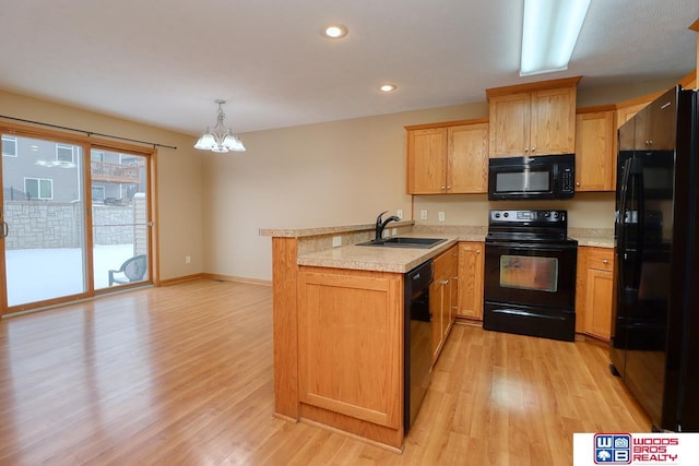
<path id="1" fill-rule="evenodd" d="M 423 403 L 433 366 L 433 315 L 429 311 L 431 259 L 404 277 L 403 432 L 407 433 Z"/>

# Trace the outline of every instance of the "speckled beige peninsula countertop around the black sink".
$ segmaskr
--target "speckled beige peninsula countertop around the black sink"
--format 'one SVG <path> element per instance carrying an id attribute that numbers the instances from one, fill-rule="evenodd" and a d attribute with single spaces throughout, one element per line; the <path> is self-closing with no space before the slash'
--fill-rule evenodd
<path id="1" fill-rule="evenodd" d="M 459 241 L 454 235 L 401 235 L 416 238 L 445 238 L 447 241 L 429 249 L 343 246 L 323 251 L 299 254 L 298 265 L 350 268 L 359 271 L 405 273 L 451 248 Z"/>

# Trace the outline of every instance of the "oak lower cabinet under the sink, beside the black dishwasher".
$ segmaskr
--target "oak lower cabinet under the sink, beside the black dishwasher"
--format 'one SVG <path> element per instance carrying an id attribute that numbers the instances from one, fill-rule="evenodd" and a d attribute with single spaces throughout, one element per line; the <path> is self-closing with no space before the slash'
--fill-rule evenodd
<path id="1" fill-rule="evenodd" d="M 457 316 L 459 296 L 459 246 L 441 253 L 434 262 L 429 287 L 433 314 L 433 365 L 437 362 Z"/>

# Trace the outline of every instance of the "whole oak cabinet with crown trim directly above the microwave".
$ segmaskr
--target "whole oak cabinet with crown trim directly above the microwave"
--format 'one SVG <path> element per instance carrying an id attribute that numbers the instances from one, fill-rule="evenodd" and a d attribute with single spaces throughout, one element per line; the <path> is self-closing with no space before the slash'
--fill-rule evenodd
<path id="1" fill-rule="evenodd" d="M 486 89 L 490 157 L 572 154 L 578 77 Z"/>

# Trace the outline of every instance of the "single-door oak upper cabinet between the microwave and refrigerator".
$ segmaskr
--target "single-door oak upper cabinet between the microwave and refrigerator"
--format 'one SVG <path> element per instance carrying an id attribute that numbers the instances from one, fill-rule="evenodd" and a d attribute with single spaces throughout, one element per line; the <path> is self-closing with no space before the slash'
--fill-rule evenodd
<path id="1" fill-rule="evenodd" d="M 615 112 L 578 113 L 576 121 L 576 191 L 615 190 Z"/>

